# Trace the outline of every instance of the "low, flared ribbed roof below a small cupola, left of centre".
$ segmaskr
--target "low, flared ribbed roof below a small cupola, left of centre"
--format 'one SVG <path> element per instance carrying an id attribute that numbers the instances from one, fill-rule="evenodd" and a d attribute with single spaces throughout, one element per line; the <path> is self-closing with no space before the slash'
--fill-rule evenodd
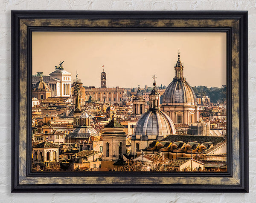
<path id="1" fill-rule="evenodd" d="M 79 126 L 74 129 L 67 137 L 71 138 L 87 138 L 98 136 L 99 133 L 92 126 Z"/>

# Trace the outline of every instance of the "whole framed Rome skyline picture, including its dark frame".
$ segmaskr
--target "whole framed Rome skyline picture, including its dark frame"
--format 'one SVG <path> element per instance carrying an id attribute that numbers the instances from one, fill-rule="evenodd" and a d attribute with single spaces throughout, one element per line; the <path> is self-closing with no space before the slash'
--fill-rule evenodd
<path id="1" fill-rule="evenodd" d="M 12 192 L 249 192 L 247 11 L 12 11 Z"/>

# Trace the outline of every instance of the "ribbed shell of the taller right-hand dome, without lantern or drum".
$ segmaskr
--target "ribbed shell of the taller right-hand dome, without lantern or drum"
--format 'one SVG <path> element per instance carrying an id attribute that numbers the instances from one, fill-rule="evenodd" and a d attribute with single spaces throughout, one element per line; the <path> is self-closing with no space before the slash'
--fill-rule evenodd
<path id="1" fill-rule="evenodd" d="M 174 79 L 163 94 L 163 103 L 196 105 L 195 92 L 185 79 Z"/>

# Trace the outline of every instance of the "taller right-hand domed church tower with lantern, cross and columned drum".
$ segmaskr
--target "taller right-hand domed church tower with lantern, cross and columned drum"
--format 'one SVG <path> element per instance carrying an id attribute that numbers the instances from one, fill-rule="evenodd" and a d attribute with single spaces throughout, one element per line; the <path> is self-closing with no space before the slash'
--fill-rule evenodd
<path id="1" fill-rule="evenodd" d="M 161 110 L 169 115 L 174 123 L 195 123 L 199 121 L 199 107 L 197 106 L 195 92 L 186 78 L 183 77 L 183 63 L 175 63 L 175 77 L 163 94 Z"/>

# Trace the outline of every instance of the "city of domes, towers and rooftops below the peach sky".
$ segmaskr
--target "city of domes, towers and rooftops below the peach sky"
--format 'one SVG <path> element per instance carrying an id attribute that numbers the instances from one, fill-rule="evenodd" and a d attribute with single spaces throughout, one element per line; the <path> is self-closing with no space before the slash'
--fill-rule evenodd
<path id="1" fill-rule="evenodd" d="M 160 69 L 151 83 L 115 87 L 103 64 L 90 75 L 94 86 L 81 69 L 71 74 L 65 59 L 50 72 L 37 69 L 32 171 L 226 172 L 226 84 L 191 86 L 185 58 L 175 53 L 168 83 L 159 80 Z"/>

